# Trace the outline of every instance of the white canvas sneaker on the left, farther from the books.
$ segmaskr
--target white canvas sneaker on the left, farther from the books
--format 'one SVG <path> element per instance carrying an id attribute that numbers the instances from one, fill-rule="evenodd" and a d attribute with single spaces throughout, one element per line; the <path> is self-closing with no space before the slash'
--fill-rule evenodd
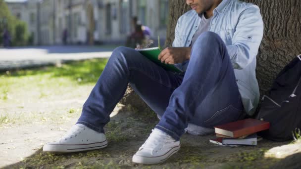
<path id="1" fill-rule="evenodd" d="M 59 141 L 45 144 L 43 151 L 70 153 L 95 150 L 106 146 L 107 140 L 103 133 L 94 131 L 84 125 L 76 124 Z"/>

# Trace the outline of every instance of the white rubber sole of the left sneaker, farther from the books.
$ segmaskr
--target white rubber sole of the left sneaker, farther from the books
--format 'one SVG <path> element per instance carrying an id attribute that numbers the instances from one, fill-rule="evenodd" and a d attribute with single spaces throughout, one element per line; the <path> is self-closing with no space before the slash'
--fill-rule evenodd
<path id="1" fill-rule="evenodd" d="M 43 146 L 43 151 L 52 153 L 72 153 L 88 150 L 97 150 L 106 146 L 107 140 L 91 144 L 45 144 Z"/>

